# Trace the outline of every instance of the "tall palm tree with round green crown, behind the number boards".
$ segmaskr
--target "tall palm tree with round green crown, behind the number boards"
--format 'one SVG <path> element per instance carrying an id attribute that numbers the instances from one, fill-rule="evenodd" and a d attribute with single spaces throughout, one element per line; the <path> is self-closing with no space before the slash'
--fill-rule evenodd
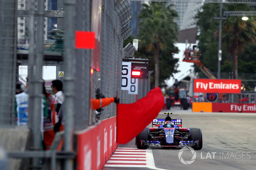
<path id="1" fill-rule="evenodd" d="M 143 6 L 139 15 L 138 37 L 142 46 L 146 46 L 146 51 L 154 54 L 156 87 L 159 86 L 159 54 L 161 51 L 168 51 L 170 47 L 173 48 L 173 43 L 177 41 L 178 26 L 174 18 L 178 14 L 163 2 L 152 2 Z"/>

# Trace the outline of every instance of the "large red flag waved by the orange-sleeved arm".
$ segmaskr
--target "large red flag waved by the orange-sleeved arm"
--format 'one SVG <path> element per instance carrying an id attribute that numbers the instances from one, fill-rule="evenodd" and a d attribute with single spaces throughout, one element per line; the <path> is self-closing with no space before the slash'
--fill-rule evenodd
<path id="1" fill-rule="evenodd" d="M 156 118 L 164 106 L 159 87 L 150 90 L 146 97 L 131 104 L 117 104 L 117 143 L 126 144 Z"/>

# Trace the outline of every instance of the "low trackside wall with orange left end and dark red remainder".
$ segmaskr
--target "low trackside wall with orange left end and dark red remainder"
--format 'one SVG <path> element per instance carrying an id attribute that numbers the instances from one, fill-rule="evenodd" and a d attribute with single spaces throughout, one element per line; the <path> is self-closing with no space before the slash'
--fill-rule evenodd
<path id="1" fill-rule="evenodd" d="M 243 112 L 256 113 L 255 103 L 210 103 L 194 102 L 193 112 Z"/>

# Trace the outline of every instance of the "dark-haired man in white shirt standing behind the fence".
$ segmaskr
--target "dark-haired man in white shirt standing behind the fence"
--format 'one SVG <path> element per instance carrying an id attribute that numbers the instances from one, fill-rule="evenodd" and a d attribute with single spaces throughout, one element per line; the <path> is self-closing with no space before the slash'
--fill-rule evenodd
<path id="1" fill-rule="evenodd" d="M 52 115 L 52 123 L 55 125 L 57 122 L 59 122 L 59 119 L 57 117 L 58 112 L 60 110 L 61 104 L 64 102 L 64 94 L 62 93 L 63 83 L 62 81 L 56 79 L 52 80 L 52 92 L 55 94 L 54 98 L 54 108 L 56 113 Z M 61 120 L 60 120 L 61 121 Z"/>

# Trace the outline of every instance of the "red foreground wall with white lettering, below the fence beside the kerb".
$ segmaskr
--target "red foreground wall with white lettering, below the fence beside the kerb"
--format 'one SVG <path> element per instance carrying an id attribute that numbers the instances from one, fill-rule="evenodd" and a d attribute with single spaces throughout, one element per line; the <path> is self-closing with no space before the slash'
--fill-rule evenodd
<path id="1" fill-rule="evenodd" d="M 77 170 L 100 170 L 116 150 L 116 116 L 76 132 Z"/>

